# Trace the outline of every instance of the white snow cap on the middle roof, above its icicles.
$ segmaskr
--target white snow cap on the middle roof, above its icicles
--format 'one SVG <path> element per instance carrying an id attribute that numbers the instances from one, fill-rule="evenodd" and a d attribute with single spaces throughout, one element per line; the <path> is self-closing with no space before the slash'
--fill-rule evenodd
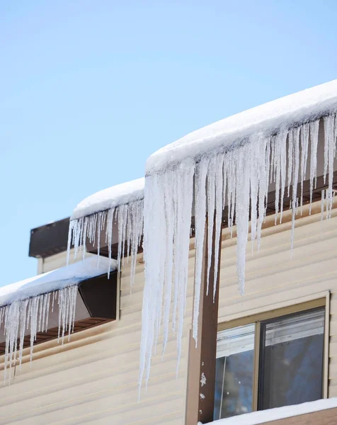
<path id="1" fill-rule="evenodd" d="M 144 198 L 144 177 L 93 193 L 76 206 L 70 220 L 109 210 Z"/>

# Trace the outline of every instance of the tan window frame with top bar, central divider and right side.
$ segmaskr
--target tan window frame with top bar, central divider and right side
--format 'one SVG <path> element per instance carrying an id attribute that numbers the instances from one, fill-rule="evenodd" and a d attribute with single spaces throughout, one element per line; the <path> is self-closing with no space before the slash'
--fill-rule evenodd
<path id="1" fill-rule="evenodd" d="M 298 300 L 300 301 L 300 300 Z M 329 322 L 330 322 L 330 293 L 322 293 L 313 297 L 312 300 L 297 302 L 296 304 L 285 305 L 273 310 L 249 314 L 244 317 L 220 322 L 217 326 L 217 332 L 244 326 L 246 324 L 255 324 L 254 339 L 254 359 L 253 359 L 253 391 L 252 391 L 252 412 L 258 410 L 259 378 L 261 368 L 261 323 L 279 317 L 297 314 L 307 310 L 324 307 L 324 353 L 323 353 L 323 374 L 322 374 L 322 395 L 323 398 L 329 397 Z"/>

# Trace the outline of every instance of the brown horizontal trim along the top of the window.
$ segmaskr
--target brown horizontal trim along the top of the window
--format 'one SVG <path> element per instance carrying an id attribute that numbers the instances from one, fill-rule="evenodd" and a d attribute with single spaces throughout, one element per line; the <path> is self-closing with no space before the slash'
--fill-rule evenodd
<path id="1" fill-rule="evenodd" d="M 274 317 L 285 316 L 286 314 L 292 314 L 297 312 L 302 312 L 304 310 L 310 310 L 316 307 L 324 307 L 326 305 L 326 297 L 321 297 L 316 300 L 310 300 L 306 302 L 301 302 L 299 304 L 293 304 L 288 307 L 281 307 L 275 310 L 270 310 L 268 312 L 261 312 L 256 314 L 251 314 L 246 317 L 239 317 L 239 319 L 233 319 L 229 322 L 219 323 L 217 326 L 218 331 L 223 331 L 224 329 L 231 329 L 238 326 L 244 326 L 245 324 L 261 322 L 263 320 L 273 319 Z"/>

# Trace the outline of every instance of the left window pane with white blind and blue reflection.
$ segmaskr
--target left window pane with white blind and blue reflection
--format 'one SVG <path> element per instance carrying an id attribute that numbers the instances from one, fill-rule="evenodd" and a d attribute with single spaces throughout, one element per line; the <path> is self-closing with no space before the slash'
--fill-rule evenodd
<path id="1" fill-rule="evenodd" d="M 251 412 L 254 330 L 249 324 L 218 333 L 215 420 Z"/>

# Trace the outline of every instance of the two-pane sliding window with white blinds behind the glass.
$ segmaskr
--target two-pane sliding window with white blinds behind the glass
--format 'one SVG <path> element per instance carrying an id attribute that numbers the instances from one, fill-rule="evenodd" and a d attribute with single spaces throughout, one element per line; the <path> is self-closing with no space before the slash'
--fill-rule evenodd
<path id="1" fill-rule="evenodd" d="M 323 397 L 325 307 L 308 307 L 218 332 L 214 420 Z"/>

